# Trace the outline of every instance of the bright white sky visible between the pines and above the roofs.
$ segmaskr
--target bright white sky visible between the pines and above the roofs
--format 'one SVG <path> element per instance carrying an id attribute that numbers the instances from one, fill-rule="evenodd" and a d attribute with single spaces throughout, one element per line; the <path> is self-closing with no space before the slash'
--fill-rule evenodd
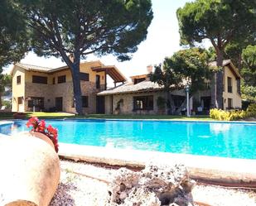
<path id="1" fill-rule="evenodd" d="M 186 2 L 189 1 L 152 0 L 154 17 L 147 29 L 147 39 L 138 46 L 132 60 L 118 62 L 113 55 L 105 55 L 101 58 L 89 55 L 86 61 L 100 60 L 104 65 L 115 65 L 127 78 L 132 75 L 146 74 L 147 65 L 158 65 L 165 57 L 171 56 L 181 49 L 176 10 L 178 7 L 183 7 Z M 38 57 L 34 53 L 28 53 L 21 62 L 52 68 L 65 65 L 60 58 L 51 57 L 46 59 Z M 9 65 L 5 68 L 5 71 L 9 72 L 11 69 L 12 65 Z"/>

